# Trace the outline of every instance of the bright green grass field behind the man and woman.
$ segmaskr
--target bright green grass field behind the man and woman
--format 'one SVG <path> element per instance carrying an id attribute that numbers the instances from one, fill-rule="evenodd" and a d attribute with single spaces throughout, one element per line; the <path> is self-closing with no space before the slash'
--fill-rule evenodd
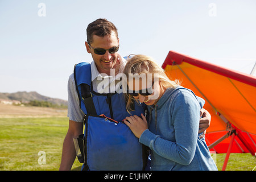
<path id="1" fill-rule="evenodd" d="M 58 170 L 67 130 L 68 118 L 0 118 L 0 171 Z M 46 152 L 46 164 L 38 163 L 39 151 Z M 225 156 L 215 157 L 219 170 Z M 251 154 L 230 154 L 226 170 L 251 171 L 255 166 Z M 72 169 L 81 169 L 77 159 Z"/>

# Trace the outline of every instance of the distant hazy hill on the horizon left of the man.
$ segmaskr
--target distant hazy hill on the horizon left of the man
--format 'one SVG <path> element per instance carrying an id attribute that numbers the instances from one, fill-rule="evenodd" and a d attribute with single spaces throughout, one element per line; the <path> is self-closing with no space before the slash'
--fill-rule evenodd
<path id="1" fill-rule="evenodd" d="M 15 93 L 0 93 L 0 100 L 16 100 L 21 102 L 30 101 L 47 101 L 57 105 L 68 105 L 68 101 L 59 98 L 51 98 L 42 96 L 37 92 L 15 92 Z"/>

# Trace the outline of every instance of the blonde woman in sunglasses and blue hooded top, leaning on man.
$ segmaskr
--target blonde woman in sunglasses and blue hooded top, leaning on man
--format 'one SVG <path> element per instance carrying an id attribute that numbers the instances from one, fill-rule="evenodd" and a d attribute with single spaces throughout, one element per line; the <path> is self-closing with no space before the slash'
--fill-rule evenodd
<path id="1" fill-rule="evenodd" d="M 217 170 L 198 134 L 204 100 L 171 81 L 151 57 L 132 57 L 123 73 L 129 78 L 126 109 L 131 111 L 134 101 L 139 101 L 150 110 L 148 123 L 143 114 L 142 119 L 133 115 L 124 122 L 139 142 L 150 147 L 151 170 Z"/>

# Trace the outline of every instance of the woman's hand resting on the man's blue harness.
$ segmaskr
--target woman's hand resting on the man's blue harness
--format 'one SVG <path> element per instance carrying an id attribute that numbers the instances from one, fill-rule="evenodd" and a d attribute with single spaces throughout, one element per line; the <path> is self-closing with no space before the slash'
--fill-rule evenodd
<path id="1" fill-rule="evenodd" d="M 148 129 L 147 119 L 143 114 L 141 114 L 141 116 L 142 118 L 138 117 L 138 115 L 131 115 L 123 120 L 137 138 L 140 138 L 143 131 Z"/>

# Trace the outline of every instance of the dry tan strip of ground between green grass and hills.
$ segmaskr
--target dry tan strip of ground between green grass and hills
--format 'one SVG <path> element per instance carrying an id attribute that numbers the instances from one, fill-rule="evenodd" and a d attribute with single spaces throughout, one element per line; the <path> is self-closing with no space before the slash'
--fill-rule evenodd
<path id="1" fill-rule="evenodd" d="M 0 118 L 67 117 L 67 109 L 0 104 Z"/>

